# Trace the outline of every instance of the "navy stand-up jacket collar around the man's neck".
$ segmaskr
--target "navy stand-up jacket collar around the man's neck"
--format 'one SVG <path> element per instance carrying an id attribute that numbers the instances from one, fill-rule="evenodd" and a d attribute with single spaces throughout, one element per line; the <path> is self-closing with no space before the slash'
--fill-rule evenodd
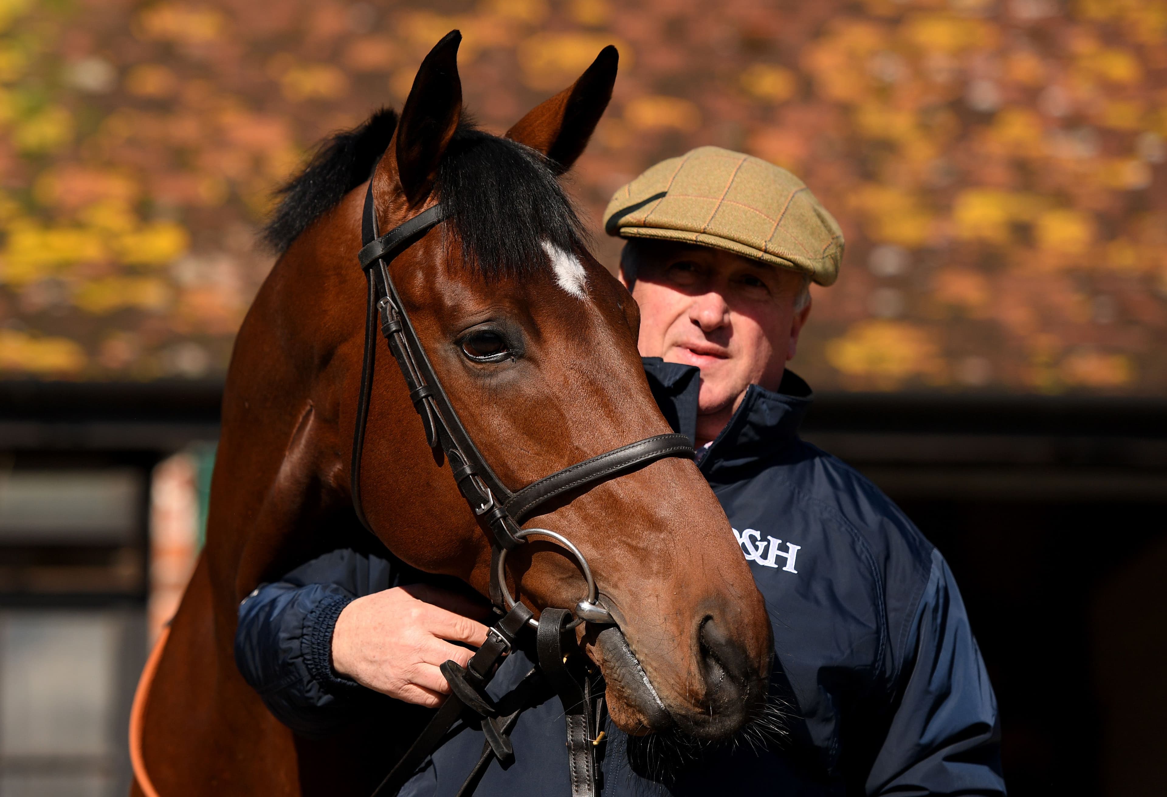
<path id="1" fill-rule="evenodd" d="M 675 429 L 690 439 L 697 429 L 697 368 L 644 358 L 654 397 Z M 697 453 L 701 473 L 711 482 L 732 481 L 742 468 L 775 459 L 798 440 L 798 425 L 813 400 L 810 386 L 792 371 L 782 376 L 778 390 L 750 385 L 721 434 Z"/>

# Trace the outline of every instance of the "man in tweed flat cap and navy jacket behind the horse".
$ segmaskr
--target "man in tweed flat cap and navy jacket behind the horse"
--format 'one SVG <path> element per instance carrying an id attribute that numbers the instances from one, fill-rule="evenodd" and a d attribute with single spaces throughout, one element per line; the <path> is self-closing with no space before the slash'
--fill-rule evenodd
<path id="1" fill-rule="evenodd" d="M 995 699 L 943 558 L 874 485 L 797 436 L 810 389 L 785 363 L 809 282 L 837 277 L 834 219 L 788 172 L 701 147 L 617 191 L 605 229 L 628 239 L 621 277 L 654 393 L 696 439 L 766 597 L 776 713 L 753 746 L 680 754 L 607 722 L 603 793 L 1004 793 Z M 370 690 L 436 705 L 438 665 L 464 663 L 453 643 L 481 644 L 485 628 L 464 597 L 397 586 L 418 578 L 338 551 L 261 587 L 240 607 L 240 670 L 302 733 L 351 718 Z M 491 693 L 527 666 L 512 655 Z M 525 712 L 516 762 L 491 765 L 477 793 L 566 793 L 561 726 L 557 700 Z M 401 793 L 455 793 L 481 750 L 461 732 Z"/>

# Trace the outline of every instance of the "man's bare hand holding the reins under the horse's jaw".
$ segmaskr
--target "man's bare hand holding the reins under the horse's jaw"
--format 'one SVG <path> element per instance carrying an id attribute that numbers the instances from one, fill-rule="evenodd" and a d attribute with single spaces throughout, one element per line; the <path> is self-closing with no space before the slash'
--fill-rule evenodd
<path id="1" fill-rule="evenodd" d="M 333 669 L 391 698 L 433 708 L 449 694 L 438 669 L 447 659 L 462 666 L 487 639 L 485 617 L 461 595 L 414 585 L 358 597 L 341 611 L 333 631 Z"/>

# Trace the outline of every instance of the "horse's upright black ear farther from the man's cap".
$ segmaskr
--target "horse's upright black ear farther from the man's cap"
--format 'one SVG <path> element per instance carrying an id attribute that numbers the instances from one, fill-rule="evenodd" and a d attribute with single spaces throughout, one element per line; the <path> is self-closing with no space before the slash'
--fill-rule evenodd
<path id="1" fill-rule="evenodd" d="M 450 30 L 429 50 L 397 125 L 397 173 L 411 205 L 429 193 L 438 162 L 462 118 L 461 42 L 461 32 Z"/>

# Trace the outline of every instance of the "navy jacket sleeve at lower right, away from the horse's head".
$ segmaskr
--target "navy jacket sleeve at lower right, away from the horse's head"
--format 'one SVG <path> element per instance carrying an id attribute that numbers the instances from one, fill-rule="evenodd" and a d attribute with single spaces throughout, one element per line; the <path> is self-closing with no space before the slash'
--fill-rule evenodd
<path id="1" fill-rule="evenodd" d="M 902 650 L 902 692 L 867 793 L 1004 795 L 997 698 L 938 552 Z"/>

